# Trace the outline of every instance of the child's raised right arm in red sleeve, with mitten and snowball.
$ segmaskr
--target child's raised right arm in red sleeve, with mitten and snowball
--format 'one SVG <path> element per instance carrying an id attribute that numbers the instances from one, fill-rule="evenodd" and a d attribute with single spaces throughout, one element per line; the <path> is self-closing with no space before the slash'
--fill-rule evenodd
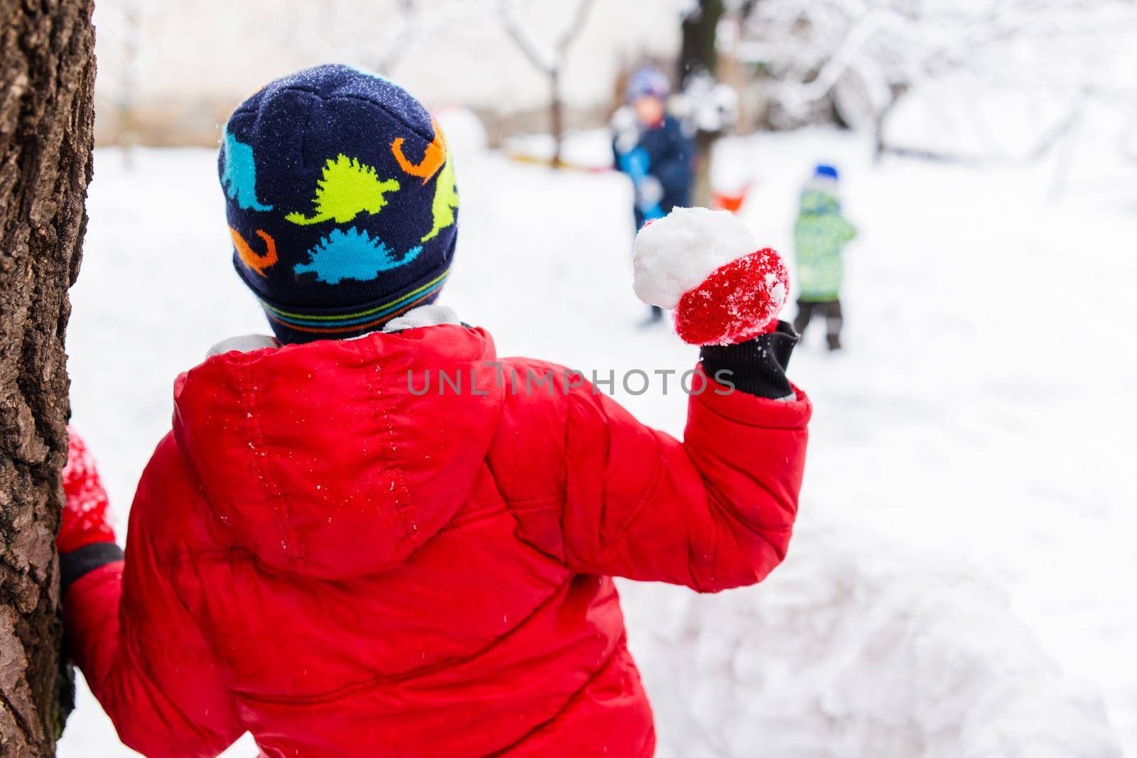
<path id="1" fill-rule="evenodd" d="M 698 208 L 678 209 L 637 239 L 637 294 L 674 308 L 679 335 L 704 345 L 703 381 L 686 388 L 694 394 L 682 442 L 583 382 L 561 403 L 522 400 L 520 413 L 507 411 L 511 431 L 564 424 L 559 438 L 514 445 L 523 460 L 491 463 L 530 474 L 507 483 L 506 498 L 521 503 L 514 513 L 533 543 L 570 568 L 714 592 L 758 582 L 786 557 L 811 409 L 785 373 L 797 334 L 773 318 L 788 274 L 773 250 L 755 248 L 730 214 Z M 512 423 L 530 414 L 547 418 Z M 549 439 L 554 449 L 536 452 Z M 563 460 L 563 469 L 536 476 L 541 457 Z M 547 509 L 559 500 L 555 526 L 536 492 L 525 497 L 541 480 L 559 488 L 543 501 Z"/>

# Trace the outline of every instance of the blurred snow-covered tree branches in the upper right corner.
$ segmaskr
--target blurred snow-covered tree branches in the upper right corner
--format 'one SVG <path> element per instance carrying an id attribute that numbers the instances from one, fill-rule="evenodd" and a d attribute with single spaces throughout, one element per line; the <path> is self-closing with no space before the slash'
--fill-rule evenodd
<path id="1" fill-rule="evenodd" d="M 1113 55 L 1126 47 L 1123 30 L 1137 31 L 1126 0 L 762 0 L 731 8 L 744 30 L 738 57 L 773 80 L 775 122 L 836 110 L 850 126 L 875 130 L 881 150 L 898 100 L 928 84 L 969 78 L 1061 100 L 1064 113 L 1044 135 L 1068 133 L 1060 126 L 1071 108 L 1086 107 L 1084 93 L 1137 94 Z"/>

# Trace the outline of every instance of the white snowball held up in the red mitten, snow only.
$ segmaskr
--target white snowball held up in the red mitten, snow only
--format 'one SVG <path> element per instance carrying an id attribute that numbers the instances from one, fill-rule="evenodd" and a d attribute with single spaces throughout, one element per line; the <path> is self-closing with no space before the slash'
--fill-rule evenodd
<path id="1" fill-rule="evenodd" d="M 675 208 L 636 235 L 636 297 L 674 308 L 716 268 L 757 249 L 750 230 L 730 211 Z"/>

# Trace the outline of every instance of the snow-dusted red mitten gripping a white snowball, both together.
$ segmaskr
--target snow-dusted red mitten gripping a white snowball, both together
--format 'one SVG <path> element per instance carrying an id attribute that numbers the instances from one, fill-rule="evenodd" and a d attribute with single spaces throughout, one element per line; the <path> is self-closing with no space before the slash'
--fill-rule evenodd
<path id="1" fill-rule="evenodd" d="M 757 250 L 749 230 L 724 210 L 677 208 L 636 238 L 636 294 L 674 309 L 691 344 L 745 342 L 778 326 L 789 294 L 781 257 Z"/>

